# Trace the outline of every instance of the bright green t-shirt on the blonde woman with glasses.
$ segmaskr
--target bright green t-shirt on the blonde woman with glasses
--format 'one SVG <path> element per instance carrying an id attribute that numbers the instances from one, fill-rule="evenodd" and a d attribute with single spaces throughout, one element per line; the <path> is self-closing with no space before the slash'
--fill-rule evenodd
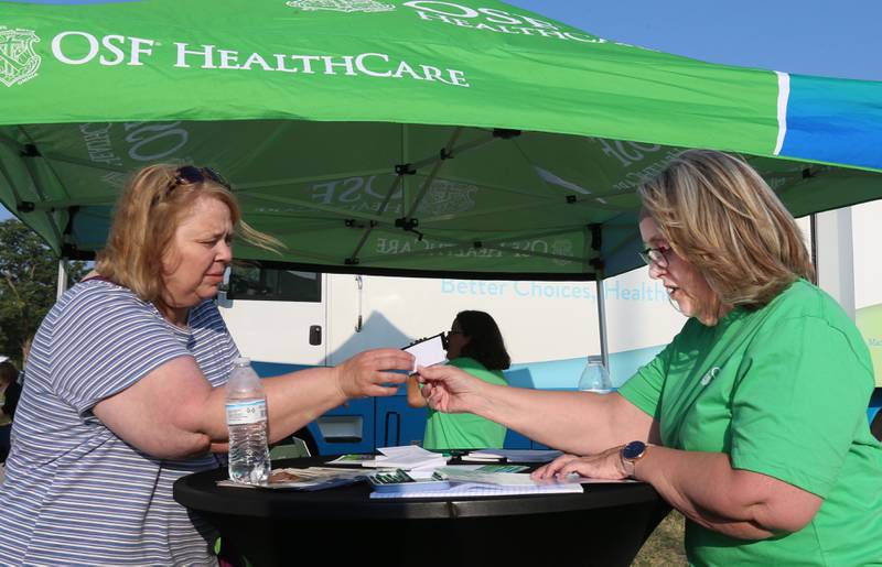
<path id="1" fill-rule="evenodd" d="M 882 564 L 882 446 L 867 421 L 873 385 L 854 324 L 806 281 L 713 327 L 689 319 L 619 393 L 655 417 L 666 447 L 727 452 L 736 469 L 824 499 L 806 527 L 764 541 L 688 522 L 690 563 Z"/>

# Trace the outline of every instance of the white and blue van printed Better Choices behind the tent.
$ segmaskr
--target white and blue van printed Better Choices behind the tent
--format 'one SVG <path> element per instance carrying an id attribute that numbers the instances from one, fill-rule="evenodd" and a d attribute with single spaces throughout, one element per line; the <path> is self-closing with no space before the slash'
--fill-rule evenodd
<path id="1" fill-rule="evenodd" d="M 604 283 L 610 373 L 617 386 L 670 341 L 684 317 L 646 269 Z M 405 347 L 450 329 L 463 309 L 490 313 L 512 357 L 509 383 L 576 389 L 589 355 L 600 353 L 594 282 L 523 282 L 316 274 L 236 268 L 220 312 L 239 350 L 261 375 L 333 366 L 366 349 Z M 354 400 L 299 432 L 313 451 L 372 451 L 421 443 L 426 410 L 404 388 Z M 530 447 L 509 432 L 507 447 Z"/>

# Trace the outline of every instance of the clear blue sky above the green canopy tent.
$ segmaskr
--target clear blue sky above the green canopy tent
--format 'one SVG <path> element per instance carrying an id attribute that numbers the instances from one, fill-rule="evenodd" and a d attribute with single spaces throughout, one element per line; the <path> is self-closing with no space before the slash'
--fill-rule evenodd
<path id="1" fill-rule="evenodd" d="M 882 80 L 879 0 L 508 2 L 607 40 L 712 63 Z M 0 206 L 0 220 L 9 216 Z"/>

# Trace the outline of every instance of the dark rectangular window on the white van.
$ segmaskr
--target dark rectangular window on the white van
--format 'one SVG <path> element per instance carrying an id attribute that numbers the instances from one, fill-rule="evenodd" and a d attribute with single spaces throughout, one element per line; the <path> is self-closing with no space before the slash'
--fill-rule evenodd
<path id="1" fill-rule="evenodd" d="M 322 277 L 315 272 L 234 265 L 227 297 L 266 302 L 322 301 Z"/>

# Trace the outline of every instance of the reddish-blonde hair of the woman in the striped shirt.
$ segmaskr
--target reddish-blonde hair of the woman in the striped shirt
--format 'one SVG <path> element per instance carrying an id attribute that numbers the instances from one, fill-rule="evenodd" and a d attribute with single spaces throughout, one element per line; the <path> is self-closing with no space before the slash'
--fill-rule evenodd
<path id="1" fill-rule="evenodd" d="M 181 220 L 201 197 L 219 200 L 243 238 L 261 248 L 278 250 L 275 238 L 241 220 L 241 209 L 226 185 L 205 176 L 191 182 L 179 176 L 180 166 L 149 165 L 135 174 L 116 206 L 105 249 L 95 270 L 135 292 L 146 302 L 160 301 L 164 290 L 162 259 L 172 246 Z"/>

